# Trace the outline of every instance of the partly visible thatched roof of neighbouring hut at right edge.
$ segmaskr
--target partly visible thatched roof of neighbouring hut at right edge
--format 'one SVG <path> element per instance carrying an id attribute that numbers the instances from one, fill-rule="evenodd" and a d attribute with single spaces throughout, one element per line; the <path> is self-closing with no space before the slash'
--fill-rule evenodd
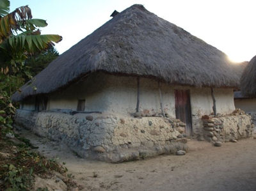
<path id="1" fill-rule="evenodd" d="M 256 97 L 256 56 L 254 56 L 241 77 L 241 92 L 244 96 Z"/>

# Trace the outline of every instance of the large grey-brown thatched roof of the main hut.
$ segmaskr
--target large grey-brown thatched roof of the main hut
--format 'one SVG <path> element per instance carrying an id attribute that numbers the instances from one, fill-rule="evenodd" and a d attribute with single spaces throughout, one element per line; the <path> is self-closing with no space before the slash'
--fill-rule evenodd
<path id="1" fill-rule="evenodd" d="M 230 88 L 241 74 L 220 50 L 134 4 L 52 61 L 12 100 L 51 93 L 97 71 Z"/>

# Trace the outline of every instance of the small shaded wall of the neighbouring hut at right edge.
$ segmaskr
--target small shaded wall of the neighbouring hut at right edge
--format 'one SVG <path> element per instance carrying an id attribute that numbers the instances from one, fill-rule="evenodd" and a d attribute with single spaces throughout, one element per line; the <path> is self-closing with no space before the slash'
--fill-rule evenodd
<path id="1" fill-rule="evenodd" d="M 245 112 L 255 112 L 256 111 L 256 99 L 235 99 L 235 106 Z"/>

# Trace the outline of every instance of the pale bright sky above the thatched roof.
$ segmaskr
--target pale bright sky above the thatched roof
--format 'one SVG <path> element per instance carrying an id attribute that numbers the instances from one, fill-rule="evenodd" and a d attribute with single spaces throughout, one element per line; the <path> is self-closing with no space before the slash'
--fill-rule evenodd
<path id="1" fill-rule="evenodd" d="M 255 0 L 10 0 L 11 11 L 29 5 L 33 18 L 47 20 L 42 34 L 60 34 L 63 53 L 102 26 L 114 10 L 143 4 L 189 33 L 225 52 L 232 61 L 256 55 Z"/>

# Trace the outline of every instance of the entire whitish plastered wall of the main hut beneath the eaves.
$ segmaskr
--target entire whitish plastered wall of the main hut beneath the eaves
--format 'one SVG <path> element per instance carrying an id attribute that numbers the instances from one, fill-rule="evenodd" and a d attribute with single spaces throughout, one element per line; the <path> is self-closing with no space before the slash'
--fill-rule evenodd
<path id="1" fill-rule="evenodd" d="M 191 112 L 200 117 L 212 113 L 211 88 L 172 86 L 161 83 L 164 111 L 175 117 L 175 89 L 189 89 Z M 216 110 L 219 113 L 234 111 L 232 89 L 215 88 Z M 137 103 L 136 77 L 97 73 L 90 75 L 65 91 L 50 97 L 49 109 L 74 109 L 77 100 L 86 100 L 86 111 L 108 111 L 120 114 L 135 112 Z M 154 79 L 140 78 L 140 111 L 161 112 L 158 82 Z"/>

